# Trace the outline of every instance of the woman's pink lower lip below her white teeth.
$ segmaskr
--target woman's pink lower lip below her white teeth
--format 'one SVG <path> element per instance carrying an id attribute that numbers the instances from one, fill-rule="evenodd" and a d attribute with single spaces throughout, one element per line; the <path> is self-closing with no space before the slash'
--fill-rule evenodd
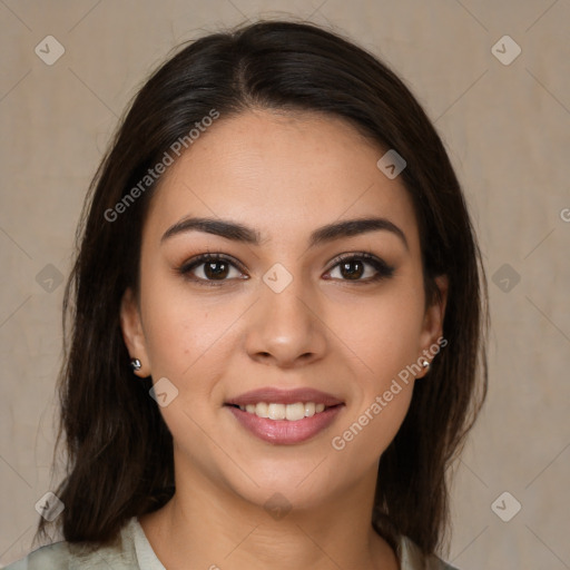
<path id="1" fill-rule="evenodd" d="M 277 445 L 292 445 L 314 438 L 317 433 L 328 428 L 344 404 L 327 407 L 311 417 L 303 420 L 269 420 L 259 417 L 239 410 L 239 407 L 226 406 L 237 421 L 255 436 L 263 441 Z"/>

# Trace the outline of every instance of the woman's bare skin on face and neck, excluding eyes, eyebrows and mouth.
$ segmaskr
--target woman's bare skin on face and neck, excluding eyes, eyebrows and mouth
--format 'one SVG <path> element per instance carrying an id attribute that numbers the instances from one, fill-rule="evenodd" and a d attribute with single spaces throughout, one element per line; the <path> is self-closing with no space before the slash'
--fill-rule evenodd
<path id="1" fill-rule="evenodd" d="M 220 117 L 153 196 L 139 292 L 126 292 L 121 326 L 142 363 L 138 375 L 167 377 L 178 390 L 160 407 L 174 438 L 177 491 L 139 519 L 168 570 L 397 569 L 371 515 L 380 456 L 407 412 L 414 380 L 342 451 L 331 444 L 442 335 L 446 282 L 438 281 L 442 302 L 426 307 L 412 200 L 399 177 L 376 167 L 384 151 L 341 118 L 247 111 Z M 239 222 L 263 240 L 191 230 L 161 242 L 190 215 Z M 407 245 L 384 229 L 307 248 L 316 228 L 371 216 L 395 224 Z M 392 276 L 362 283 L 376 274 L 366 264 L 357 283 L 334 263 L 362 250 L 393 266 Z M 230 266 L 220 286 L 177 271 L 208 252 L 245 271 Z M 263 281 L 276 263 L 293 276 L 281 293 Z M 191 275 L 206 279 L 204 269 Z M 315 387 L 345 405 L 313 439 L 276 445 L 224 406 L 262 386 Z M 291 507 L 278 520 L 264 508 L 276 492 Z"/>

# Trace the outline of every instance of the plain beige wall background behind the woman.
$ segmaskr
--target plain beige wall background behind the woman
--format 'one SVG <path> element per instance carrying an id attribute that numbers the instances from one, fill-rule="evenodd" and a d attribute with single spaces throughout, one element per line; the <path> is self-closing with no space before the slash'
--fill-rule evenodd
<path id="1" fill-rule="evenodd" d="M 337 26 L 400 72 L 435 121 L 480 235 L 490 393 L 458 465 L 448 559 L 570 568 L 568 0 L 0 0 L 0 566 L 29 551 L 50 489 L 63 286 L 46 266 L 69 272 L 117 117 L 176 43 L 287 13 Z M 66 49 L 53 66 L 35 53 L 48 35 Z M 510 65 L 491 51 L 504 35 L 522 49 Z M 514 287 L 497 273 L 504 264 Z M 491 509 L 504 491 L 522 504 L 510 522 Z"/>

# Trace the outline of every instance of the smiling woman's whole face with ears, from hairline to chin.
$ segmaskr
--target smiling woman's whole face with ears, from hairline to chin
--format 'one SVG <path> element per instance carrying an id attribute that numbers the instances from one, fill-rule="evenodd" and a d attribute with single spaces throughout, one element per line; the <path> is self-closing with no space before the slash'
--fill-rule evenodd
<path id="1" fill-rule="evenodd" d="M 425 307 L 412 202 L 383 154 L 338 118 L 248 111 L 164 176 L 121 323 L 159 382 L 177 479 L 304 508 L 375 482 L 444 308 Z"/>

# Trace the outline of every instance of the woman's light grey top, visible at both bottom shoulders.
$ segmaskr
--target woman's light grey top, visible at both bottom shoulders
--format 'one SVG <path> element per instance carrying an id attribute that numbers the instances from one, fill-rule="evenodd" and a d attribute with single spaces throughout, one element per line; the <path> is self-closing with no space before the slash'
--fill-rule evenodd
<path id="1" fill-rule="evenodd" d="M 420 549 L 402 537 L 396 552 L 401 570 L 456 570 L 436 557 L 423 557 Z M 166 570 L 148 542 L 142 527 L 132 517 L 120 531 L 120 546 L 86 553 L 80 544 L 66 541 L 47 544 L 6 570 Z"/>

